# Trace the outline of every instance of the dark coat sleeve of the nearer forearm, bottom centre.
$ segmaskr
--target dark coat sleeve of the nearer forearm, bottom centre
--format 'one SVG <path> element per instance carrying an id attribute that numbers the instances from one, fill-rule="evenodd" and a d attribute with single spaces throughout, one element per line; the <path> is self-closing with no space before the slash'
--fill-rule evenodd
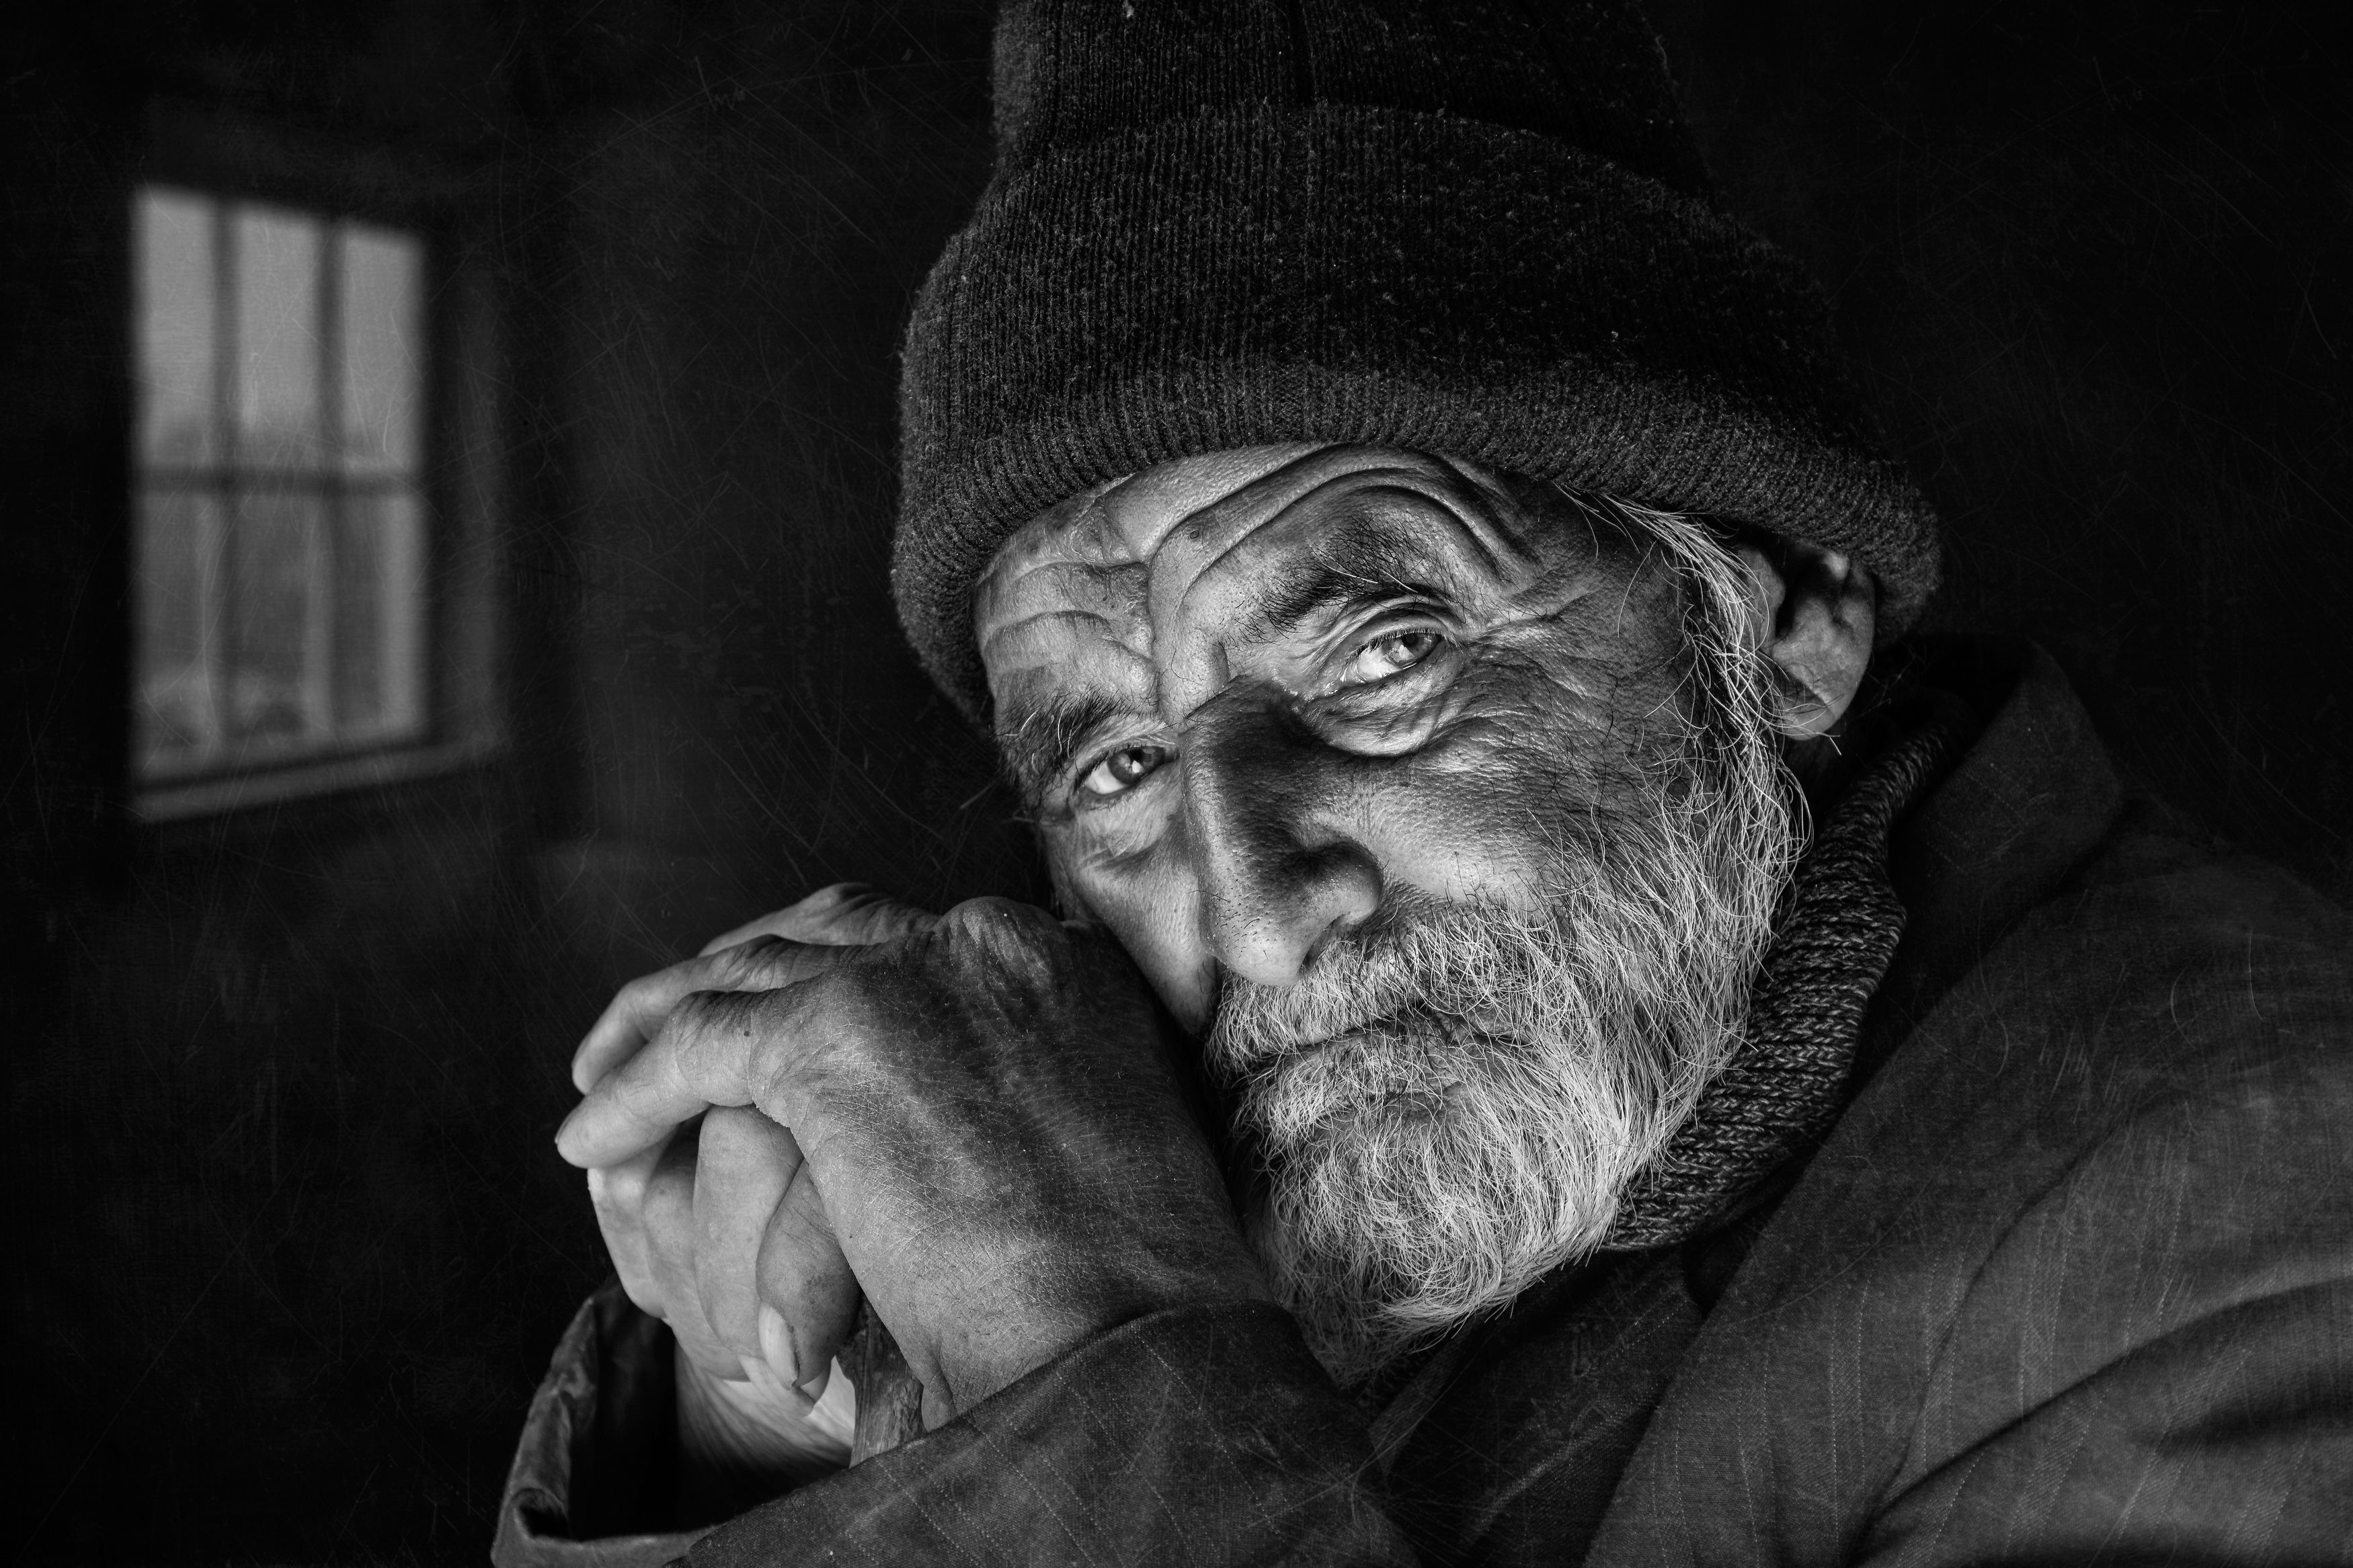
<path id="1" fill-rule="evenodd" d="M 1158 1312 L 720 1526 L 689 1568 L 1412 1563 L 1365 1415 L 1275 1307 Z"/>

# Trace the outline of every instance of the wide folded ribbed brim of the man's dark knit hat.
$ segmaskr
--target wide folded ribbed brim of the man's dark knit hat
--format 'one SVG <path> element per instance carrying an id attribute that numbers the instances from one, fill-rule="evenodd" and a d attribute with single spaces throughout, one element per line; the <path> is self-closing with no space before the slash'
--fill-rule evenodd
<path id="1" fill-rule="evenodd" d="M 981 719 L 972 585 L 1071 494 L 1271 442 L 1471 458 L 1859 557 L 1882 637 L 1937 524 L 1798 263 L 1699 200 L 1452 115 L 1224 108 L 1054 150 L 915 303 L 899 616 Z"/>

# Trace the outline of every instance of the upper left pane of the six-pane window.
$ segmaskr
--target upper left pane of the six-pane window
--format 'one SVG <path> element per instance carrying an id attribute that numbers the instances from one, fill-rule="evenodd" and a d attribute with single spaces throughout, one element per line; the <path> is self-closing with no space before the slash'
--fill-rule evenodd
<path id="1" fill-rule="evenodd" d="M 212 202 L 141 190 L 132 209 L 139 270 L 139 456 L 212 456 Z"/>

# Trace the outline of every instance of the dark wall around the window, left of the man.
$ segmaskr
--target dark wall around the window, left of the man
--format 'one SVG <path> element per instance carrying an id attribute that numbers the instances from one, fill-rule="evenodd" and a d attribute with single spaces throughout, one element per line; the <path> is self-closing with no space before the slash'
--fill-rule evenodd
<path id="1" fill-rule="evenodd" d="M 882 585 L 986 16 L 42 12 L 0 24 L 9 1552 L 480 1561 L 605 1274 L 548 1138 L 612 987 L 852 872 L 1033 891 Z M 454 193 L 504 317 L 487 764 L 127 811 L 125 219 L 186 125 Z"/>

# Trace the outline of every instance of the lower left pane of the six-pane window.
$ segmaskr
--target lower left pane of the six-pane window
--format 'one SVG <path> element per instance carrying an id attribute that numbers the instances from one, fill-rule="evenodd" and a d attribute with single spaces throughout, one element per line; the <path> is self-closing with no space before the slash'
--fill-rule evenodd
<path id="1" fill-rule="evenodd" d="M 219 592 L 221 510 L 186 487 L 139 494 L 136 745 L 146 771 L 202 766 L 221 745 L 207 607 Z"/>

